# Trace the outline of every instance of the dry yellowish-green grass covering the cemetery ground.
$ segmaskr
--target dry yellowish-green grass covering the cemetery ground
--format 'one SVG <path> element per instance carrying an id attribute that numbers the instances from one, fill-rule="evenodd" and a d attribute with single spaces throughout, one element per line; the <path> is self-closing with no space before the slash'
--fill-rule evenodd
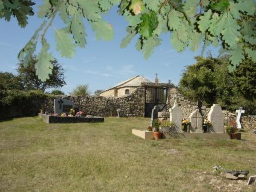
<path id="1" fill-rule="evenodd" d="M 256 174 L 256 135 L 243 141 L 166 139 L 131 134 L 148 118 L 46 124 L 0 122 L 0 191 L 256 191 L 213 166 Z"/>

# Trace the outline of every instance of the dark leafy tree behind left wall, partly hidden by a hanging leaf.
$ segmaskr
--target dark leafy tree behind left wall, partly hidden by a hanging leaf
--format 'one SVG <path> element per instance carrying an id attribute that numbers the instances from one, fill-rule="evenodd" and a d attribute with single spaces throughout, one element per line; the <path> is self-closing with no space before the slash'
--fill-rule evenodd
<path id="1" fill-rule="evenodd" d="M 35 57 L 31 58 L 30 65 L 25 67 L 23 62 L 18 64 L 18 76 L 22 80 L 23 87 L 25 90 L 42 90 L 45 91 L 49 88 L 59 88 L 63 85 L 66 85 L 64 70 L 61 65 L 58 63 L 57 59 L 53 59 L 51 61 L 51 65 L 53 66 L 52 74 L 50 78 L 45 82 L 41 81 L 38 78 L 37 71 L 35 69 L 35 63 L 37 60 Z"/>

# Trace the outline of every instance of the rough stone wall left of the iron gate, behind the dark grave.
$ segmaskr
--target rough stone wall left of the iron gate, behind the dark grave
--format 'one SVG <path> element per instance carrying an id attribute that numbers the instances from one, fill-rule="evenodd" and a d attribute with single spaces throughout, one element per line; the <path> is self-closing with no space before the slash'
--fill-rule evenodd
<path id="1" fill-rule="evenodd" d="M 125 117 L 143 117 L 145 111 L 143 87 L 138 87 L 133 94 L 118 98 L 85 95 L 65 96 L 62 98 L 73 101 L 76 111 L 85 110 L 87 114 L 95 116 L 117 116 L 117 109 L 121 109 Z M 49 113 L 54 113 L 53 99 L 45 101 L 42 108 Z"/>

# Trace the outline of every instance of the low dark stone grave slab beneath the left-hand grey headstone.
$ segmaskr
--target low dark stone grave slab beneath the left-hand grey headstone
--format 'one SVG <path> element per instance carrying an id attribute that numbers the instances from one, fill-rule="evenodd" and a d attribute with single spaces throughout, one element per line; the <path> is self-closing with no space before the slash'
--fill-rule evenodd
<path id="1" fill-rule="evenodd" d="M 54 115 L 46 115 L 39 113 L 38 117 L 41 117 L 46 123 L 97 123 L 104 122 L 103 117 L 55 117 Z"/>

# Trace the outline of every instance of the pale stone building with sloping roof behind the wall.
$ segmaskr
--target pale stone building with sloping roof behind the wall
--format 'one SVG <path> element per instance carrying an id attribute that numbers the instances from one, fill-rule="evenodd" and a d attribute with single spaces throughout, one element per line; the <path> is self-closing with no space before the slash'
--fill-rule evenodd
<path id="1" fill-rule="evenodd" d="M 148 79 L 142 76 L 135 76 L 133 78 L 127 79 L 117 85 L 106 89 L 100 93 L 103 97 L 122 97 L 131 93 L 141 86 L 141 83 L 151 83 Z"/>

